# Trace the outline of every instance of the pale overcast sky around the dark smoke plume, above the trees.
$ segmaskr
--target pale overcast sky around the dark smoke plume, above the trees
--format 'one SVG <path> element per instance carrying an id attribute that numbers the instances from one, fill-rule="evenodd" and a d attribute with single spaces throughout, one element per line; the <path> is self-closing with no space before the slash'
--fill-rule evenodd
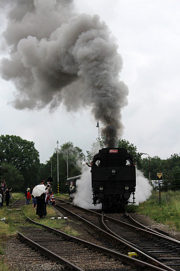
<path id="1" fill-rule="evenodd" d="M 74 5 L 77 13 L 98 14 L 117 39 L 123 59 L 120 80 L 129 89 L 128 104 L 121 111 L 122 138 L 151 157 L 179 154 L 180 2 L 75 0 Z M 7 23 L 4 14 L 1 10 L 1 32 Z M 0 56 L 8 57 L 4 41 Z M 1 134 L 33 141 L 42 163 L 52 156 L 57 139 L 59 145 L 73 142 L 85 155 L 91 150 L 98 128 L 90 108 L 67 112 L 61 103 L 54 112 L 18 110 L 10 103 L 14 84 L 0 78 L 0 88 Z"/>

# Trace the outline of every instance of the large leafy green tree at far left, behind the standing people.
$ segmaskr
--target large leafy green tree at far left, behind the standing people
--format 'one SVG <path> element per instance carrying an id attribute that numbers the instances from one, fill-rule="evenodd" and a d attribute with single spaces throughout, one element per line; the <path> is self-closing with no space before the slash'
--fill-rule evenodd
<path id="1" fill-rule="evenodd" d="M 24 187 L 37 182 L 40 158 L 34 142 L 15 135 L 0 136 L 0 162 L 11 164 L 24 176 Z"/>

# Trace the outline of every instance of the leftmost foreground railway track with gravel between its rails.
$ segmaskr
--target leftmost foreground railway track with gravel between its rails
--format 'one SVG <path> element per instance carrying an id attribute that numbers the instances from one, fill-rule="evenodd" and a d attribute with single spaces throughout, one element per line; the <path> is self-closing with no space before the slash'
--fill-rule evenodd
<path id="1" fill-rule="evenodd" d="M 67 270 L 164 270 L 56 229 L 41 226 L 43 229 L 34 226 L 19 227 L 21 231 L 21 233 L 18 231 L 19 238 L 55 261 L 61 262 Z"/>

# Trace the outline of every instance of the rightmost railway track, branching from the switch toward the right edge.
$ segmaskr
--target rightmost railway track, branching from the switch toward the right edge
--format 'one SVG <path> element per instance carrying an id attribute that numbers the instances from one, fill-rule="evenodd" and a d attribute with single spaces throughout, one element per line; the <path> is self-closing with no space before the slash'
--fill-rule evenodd
<path id="1" fill-rule="evenodd" d="M 164 234 L 148 231 L 123 221 L 102 216 L 104 228 L 129 244 L 137 246 L 142 251 L 147 251 L 156 260 L 179 270 L 180 242 Z"/>

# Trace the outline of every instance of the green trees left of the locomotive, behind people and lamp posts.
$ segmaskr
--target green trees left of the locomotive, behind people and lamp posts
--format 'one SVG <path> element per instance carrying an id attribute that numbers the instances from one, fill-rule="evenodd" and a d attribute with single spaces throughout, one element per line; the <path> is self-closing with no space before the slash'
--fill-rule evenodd
<path id="1" fill-rule="evenodd" d="M 67 156 L 66 156 L 67 154 Z M 58 148 L 58 171 L 60 192 L 67 192 L 67 158 L 68 174 L 81 174 L 85 155 L 82 149 L 74 147 L 72 142 L 66 142 Z M 33 188 L 48 177 L 53 178 L 53 189 L 57 192 L 57 149 L 46 163 L 40 163 L 40 154 L 34 147 L 34 142 L 15 135 L 0 136 L 0 178 L 5 179 L 13 191 L 24 191 L 26 187 Z M 52 167 L 51 167 L 52 165 Z M 52 168 L 52 170 L 51 170 Z"/>

